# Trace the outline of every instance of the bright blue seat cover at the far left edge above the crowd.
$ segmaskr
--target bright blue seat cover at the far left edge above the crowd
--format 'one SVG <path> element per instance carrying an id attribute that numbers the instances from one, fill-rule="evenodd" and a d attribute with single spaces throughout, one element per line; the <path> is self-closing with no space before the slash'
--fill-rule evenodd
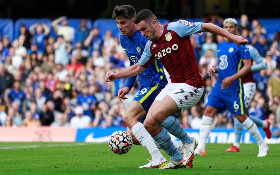
<path id="1" fill-rule="evenodd" d="M 10 41 L 14 39 L 14 23 L 10 18 L 0 18 L 0 33 L 1 39 L 4 36 L 9 36 Z"/>

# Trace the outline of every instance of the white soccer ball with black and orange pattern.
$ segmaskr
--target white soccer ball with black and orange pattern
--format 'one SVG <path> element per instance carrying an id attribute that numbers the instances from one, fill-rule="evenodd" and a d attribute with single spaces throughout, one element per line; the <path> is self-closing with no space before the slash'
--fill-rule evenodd
<path id="1" fill-rule="evenodd" d="M 132 137 L 125 131 L 116 131 L 109 138 L 108 144 L 114 153 L 125 154 L 131 149 Z"/>

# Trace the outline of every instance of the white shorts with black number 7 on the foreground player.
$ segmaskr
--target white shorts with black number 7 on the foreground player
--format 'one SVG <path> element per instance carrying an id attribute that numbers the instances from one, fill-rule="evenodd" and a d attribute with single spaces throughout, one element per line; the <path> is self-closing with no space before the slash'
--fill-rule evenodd
<path id="1" fill-rule="evenodd" d="M 199 102 L 203 91 L 204 87 L 196 88 L 186 83 L 168 82 L 165 88 L 156 96 L 155 100 L 161 101 L 168 95 L 176 102 L 179 112 L 182 113 Z"/>

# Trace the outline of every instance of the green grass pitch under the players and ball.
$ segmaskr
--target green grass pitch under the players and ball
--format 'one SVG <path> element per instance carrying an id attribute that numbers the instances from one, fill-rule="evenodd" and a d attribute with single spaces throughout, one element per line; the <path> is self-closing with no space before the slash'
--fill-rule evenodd
<path id="1" fill-rule="evenodd" d="M 150 159 L 142 146 L 116 155 L 107 144 L 0 143 L 0 174 L 280 174 L 279 145 L 269 145 L 264 158 L 257 157 L 257 144 L 241 144 L 241 152 L 225 153 L 229 146 L 207 144 L 207 156 L 195 156 L 193 168 L 161 170 L 138 169 Z"/>

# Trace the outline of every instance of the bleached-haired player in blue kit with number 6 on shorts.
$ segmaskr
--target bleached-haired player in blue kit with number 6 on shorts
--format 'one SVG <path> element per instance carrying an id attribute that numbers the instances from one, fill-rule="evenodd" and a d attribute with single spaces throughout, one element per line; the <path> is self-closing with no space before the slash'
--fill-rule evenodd
<path id="1" fill-rule="evenodd" d="M 236 34 L 237 22 L 233 18 L 227 18 L 224 29 L 229 33 Z M 258 157 L 267 155 L 268 146 L 263 141 L 260 131 L 255 123 L 246 115 L 244 102 L 244 88 L 241 77 L 251 71 L 251 56 L 247 45 L 236 45 L 231 40 L 218 44 L 218 79 L 213 87 L 206 104 L 199 130 L 199 144 L 195 150 L 196 155 L 206 155 L 205 145 L 211 132 L 213 117 L 217 112 L 228 109 L 238 121 L 248 129 L 259 146 Z M 208 71 L 211 76 L 217 70 Z"/>

